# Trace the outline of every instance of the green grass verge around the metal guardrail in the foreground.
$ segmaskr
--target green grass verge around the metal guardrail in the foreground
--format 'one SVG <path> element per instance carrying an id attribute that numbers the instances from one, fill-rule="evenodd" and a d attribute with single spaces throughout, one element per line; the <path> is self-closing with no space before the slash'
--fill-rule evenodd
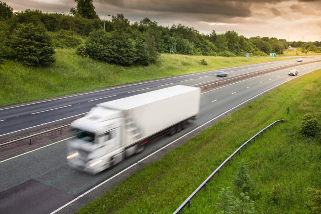
<path id="1" fill-rule="evenodd" d="M 217 213 L 218 192 L 232 187 L 240 159 L 250 167 L 255 183 L 258 213 L 307 213 L 308 187 L 321 187 L 321 149 L 313 139 L 297 133 L 301 117 L 313 113 L 321 120 L 321 70 L 284 84 L 249 103 L 143 167 L 77 213 L 172 213 L 233 151 L 275 120 L 286 123 L 243 149 L 232 165 L 214 176 L 208 191 L 202 190 L 191 209 L 183 213 Z M 308 96 L 307 96 L 308 95 Z M 286 106 L 290 113 L 286 113 Z M 279 204 L 268 193 L 274 184 L 283 189 Z M 235 191 L 234 191 L 235 192 Z M 261 196 L 259 196 L 261 195 Z"/>

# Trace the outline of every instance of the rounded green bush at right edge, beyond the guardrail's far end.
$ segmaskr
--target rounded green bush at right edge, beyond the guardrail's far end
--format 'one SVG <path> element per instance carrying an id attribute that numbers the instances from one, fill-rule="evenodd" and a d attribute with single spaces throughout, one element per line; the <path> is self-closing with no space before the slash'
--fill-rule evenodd
<path id="1" fill-rule="evenodd" d="M 302 124 L 299 126 L 299 133 L 302 137 L 314 137 L 320 128 L 317 119 L 315 119 L 312 114 L 305 114 L 302 119 Z"/>

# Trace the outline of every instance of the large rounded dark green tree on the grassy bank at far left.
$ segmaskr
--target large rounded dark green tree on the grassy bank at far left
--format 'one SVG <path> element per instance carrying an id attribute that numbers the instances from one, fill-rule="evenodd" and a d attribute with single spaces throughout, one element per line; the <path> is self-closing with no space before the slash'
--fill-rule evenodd
<path id="1" fill-rule="evenodd" d="M 25 65 L 36 66 L 55 62 L 51 37 L 42 25 L 19 24 L 10 39 L 14 57 Z"/>

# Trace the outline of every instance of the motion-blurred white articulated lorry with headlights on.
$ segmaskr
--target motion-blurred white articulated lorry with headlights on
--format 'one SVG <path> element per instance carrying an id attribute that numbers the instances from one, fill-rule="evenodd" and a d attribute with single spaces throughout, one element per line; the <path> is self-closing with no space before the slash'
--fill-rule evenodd
<path id="1" fill-rule="evenodd" d="M 139 153 L 156 133 L 186 128 L 199 112 L 200 88 L 176 85 L 98 104 L 72 124 L 68 164 L 96 174 Z"/>

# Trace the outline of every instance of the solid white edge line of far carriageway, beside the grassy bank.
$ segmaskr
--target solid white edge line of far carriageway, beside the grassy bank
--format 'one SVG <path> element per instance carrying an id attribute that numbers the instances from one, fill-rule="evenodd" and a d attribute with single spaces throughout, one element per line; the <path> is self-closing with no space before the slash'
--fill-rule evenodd
<path id="1" fill-rule="evenodd" d="M 283 60 L 283 61 L 285 62 L 285 61 L 290 61 L 290 60 L 291 60 L 291 59 L 287 59 L 287 60 Z M 266 62 L 266 63 L 270 63 L 270 62 Z M 256 64 L 263 64 L 263 63 L 256 63 Z M 255 65 L 255 64 L 253 64 L 253 65 Z M 240 65 L 240 66 L 230 67 L 230 68 L 239 68 L 239 67 L 244 67 L 244 66 L 247 66 L 247 65 Z M 267 66 L 267 65 L 264 65 L 264 66 Z M 230 69 L 230 68 L 223 68 L 223 69 Z M 220 70 L 222 70 L 222 69 L 215 69 L 215 70 L 211 70 L 211 71 L 205 71 L 205 72 L 202 72 L 202 73 L 215 72 L 215 71 L 220 71 Z M 68 96 L 68 97 L 61 97 L 61 98 L 56 98 L 56 99 L 39 101 L 39 102 L 35 102 L 35 103 L 24 104 L 24 105 L 20 105 L 20 106 L 13 106 L 13 107 L 8 107 L 8 108 L 2 108 L 2 109 L 0 109 L 0 111 L 1 111 L 1 110 L 5 110 L 5 109 L 9 109 L 9 108 L 17 108 L 17 107 L 28 106 L 28 105 L 33 105 L 33 104 L 38 104 L 38 103 L 43 103 L 43 102 L 49 102 L 49 101 L 53 101 L 53 100 L 57 100 L 57 99 L 65 99 L 65 98 L 76 97 L 76 96 L 81 96 L 81 95 L 85 95 L 85 94 L 96 93 L 96 92 L 100 92 L 100 91 L 107 91 L 107 90 L 112 90 L 112 89 L 119 89 L 119 88 L 124 88 L 124 87 L 130 87 L 130 86 L 133 86 L 133 85 L 140 85 L 140 84 L 144 84 L 144 83 L 156 82 L 156 81 L 161 81 L 161 80 L 169 80 L 169 79 L 173 79 L 173 78 L 191 76 L 191 75 L 196 75 L 196 74 L 200 74 L 200 73 L 190 73 L 190 74 L 186 74 L 186 75 L 182 75 L 182 76 L 163 78 L 163 79 L 152 80 L 152 81 L 148 81 L 148 82 L 140 82 L 140 83 L 135 83 L 135 84 L 132 84 L 132 85 L 124 85 L 124 86 L 120 86 L 120 87 L 116 87 L 116 88 L 111 88 L 111 89 L 103 89 L 103 90 L 98 90 L 98 91 L 91 91 L 91 92 L 82 93 L 82 94 L 76 94 L 76 95 L 72 95 L 72 96 Z M 1 135 L 0 135 L 0 136 L 1 136 Z"/>

